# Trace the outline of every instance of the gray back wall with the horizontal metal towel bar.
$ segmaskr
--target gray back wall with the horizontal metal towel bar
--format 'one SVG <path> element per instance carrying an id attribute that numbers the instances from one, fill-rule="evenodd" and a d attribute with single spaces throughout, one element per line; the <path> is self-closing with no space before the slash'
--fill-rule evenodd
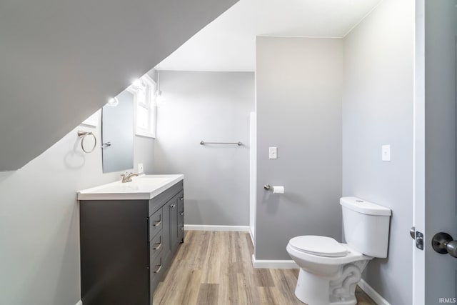
<path id="1" fill-rule="evenodd" d="M 186 224 L 248 226 L 254 74 L 161 71 L 160 86 L 154 173 L 184 174 Z"/>

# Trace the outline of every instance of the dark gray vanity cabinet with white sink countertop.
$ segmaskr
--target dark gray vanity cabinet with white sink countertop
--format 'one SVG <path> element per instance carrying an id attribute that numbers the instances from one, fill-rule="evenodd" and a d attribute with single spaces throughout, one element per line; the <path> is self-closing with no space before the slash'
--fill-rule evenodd
<path id="1" fill-rule="evenodd" d="M 143 175 L 78 199 L 83 304 L 152 304 L 184 242 L 184 176 Z"/>

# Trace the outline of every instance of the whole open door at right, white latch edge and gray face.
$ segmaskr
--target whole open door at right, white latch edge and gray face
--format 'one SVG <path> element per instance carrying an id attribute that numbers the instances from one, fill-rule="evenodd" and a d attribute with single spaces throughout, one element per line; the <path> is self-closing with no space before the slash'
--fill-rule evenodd
<path id="1" fill-rule="evenodd" d="M 416 1 L 413 304 L 457 303 L 457 259 L 433 237 L 457 239 L 456 0 Z M 417 235 L 416 235 L 417 236 Z M 445 244 L 445 243 L 443 243 Z"/>

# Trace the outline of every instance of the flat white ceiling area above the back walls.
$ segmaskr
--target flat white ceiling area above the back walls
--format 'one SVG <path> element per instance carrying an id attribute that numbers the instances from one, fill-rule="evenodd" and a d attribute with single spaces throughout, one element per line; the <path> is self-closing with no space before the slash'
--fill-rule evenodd
<path id="1" fill-rule="evenodd" d="M 254 71 L 256 36 L 344 37 L 381 0 L 240 0 L 156 69 Z"/>

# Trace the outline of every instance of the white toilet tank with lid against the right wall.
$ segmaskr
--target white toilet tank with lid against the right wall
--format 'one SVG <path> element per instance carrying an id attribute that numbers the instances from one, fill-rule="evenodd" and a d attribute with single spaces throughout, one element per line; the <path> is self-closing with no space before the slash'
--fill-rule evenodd
<path id="1" fill-rule="evenodd" d="M 387 257 L 391 209 L 356 197 L 340 199 L 346 243 L 362 254 Z"/>

